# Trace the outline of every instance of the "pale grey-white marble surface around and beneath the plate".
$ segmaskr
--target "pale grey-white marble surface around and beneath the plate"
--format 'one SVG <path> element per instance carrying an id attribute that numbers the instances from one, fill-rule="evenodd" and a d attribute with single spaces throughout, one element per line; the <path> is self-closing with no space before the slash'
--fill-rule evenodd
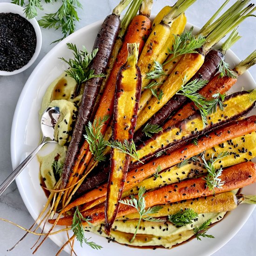
<path id="1" fill-rule="evenodd" d="M 5 2 L 6 0 L 0 0 Z M 104 19 L 111 13 L 119 0 L 81 0 L 83 10 L 79 11 L 81 21 L 77 29 L 84 27 L 94 21 Z M 188 21 L 197 26 L 202 26 L 210 15 L 215 12 L 224 0 L 197 0 L 186 12 Z M 155 0 L 152 13 L 158 13 L 165 5 L 173 5 L 174 0 Z M 234 3 L 235 0 L 230 0 Z M 252 1 L 253 2 L 253 1 Z M 44 4 L 45 12 L 53 12 L 51 4 Z M 1 10 L 0 10 L 1 11 Z M 243 38 L 231 49 L 240 59 L 244 59 L 256 46 L 256 23 L 255 19 L 249 18 L 239 27 L 239 33 Z M 3 181 L 12 171 L 10 156 L 10 132 L 14 109 L 20 92 L 37 63 L 54 46 L 50 43 L 61 37 L 61 32 L 42 29 L 43 44 L 40 55 L 32 67 L 25 72 L 13 76 L 0 76 L 0 182 Z M 256 79 L 256 67 L 250 69 Z M 13 183 L 0 197 L 0 217 L 19 223 L 23 227 L 30 227 L 33 223 L 24 203 L 21 200 L 16 184 Z M 27 256 L 32 255 L 30 248 L 35 242 L 33 235 L 27 236 L 16 249 L 7 252 L 7 249 L 20 239 L 24 232 L 11 224 L 0 222 L 0 255 L 1 256 Z M 256 255 L 256 211 L 250 216 L 248 222 L 222 249 L 217 251 L 215 256 L 255 256 Z M 202 242 L 203 243 L 203 242 Z M 38 256 L 55 255 L 58 247 L 47 240 L 37 252 Z M 142 252 L 141 252 L 142 253 Z M 63 252 L 61 255 L 67 255 Z M 171 255 L 171 251 L 170 251 Z"/>

